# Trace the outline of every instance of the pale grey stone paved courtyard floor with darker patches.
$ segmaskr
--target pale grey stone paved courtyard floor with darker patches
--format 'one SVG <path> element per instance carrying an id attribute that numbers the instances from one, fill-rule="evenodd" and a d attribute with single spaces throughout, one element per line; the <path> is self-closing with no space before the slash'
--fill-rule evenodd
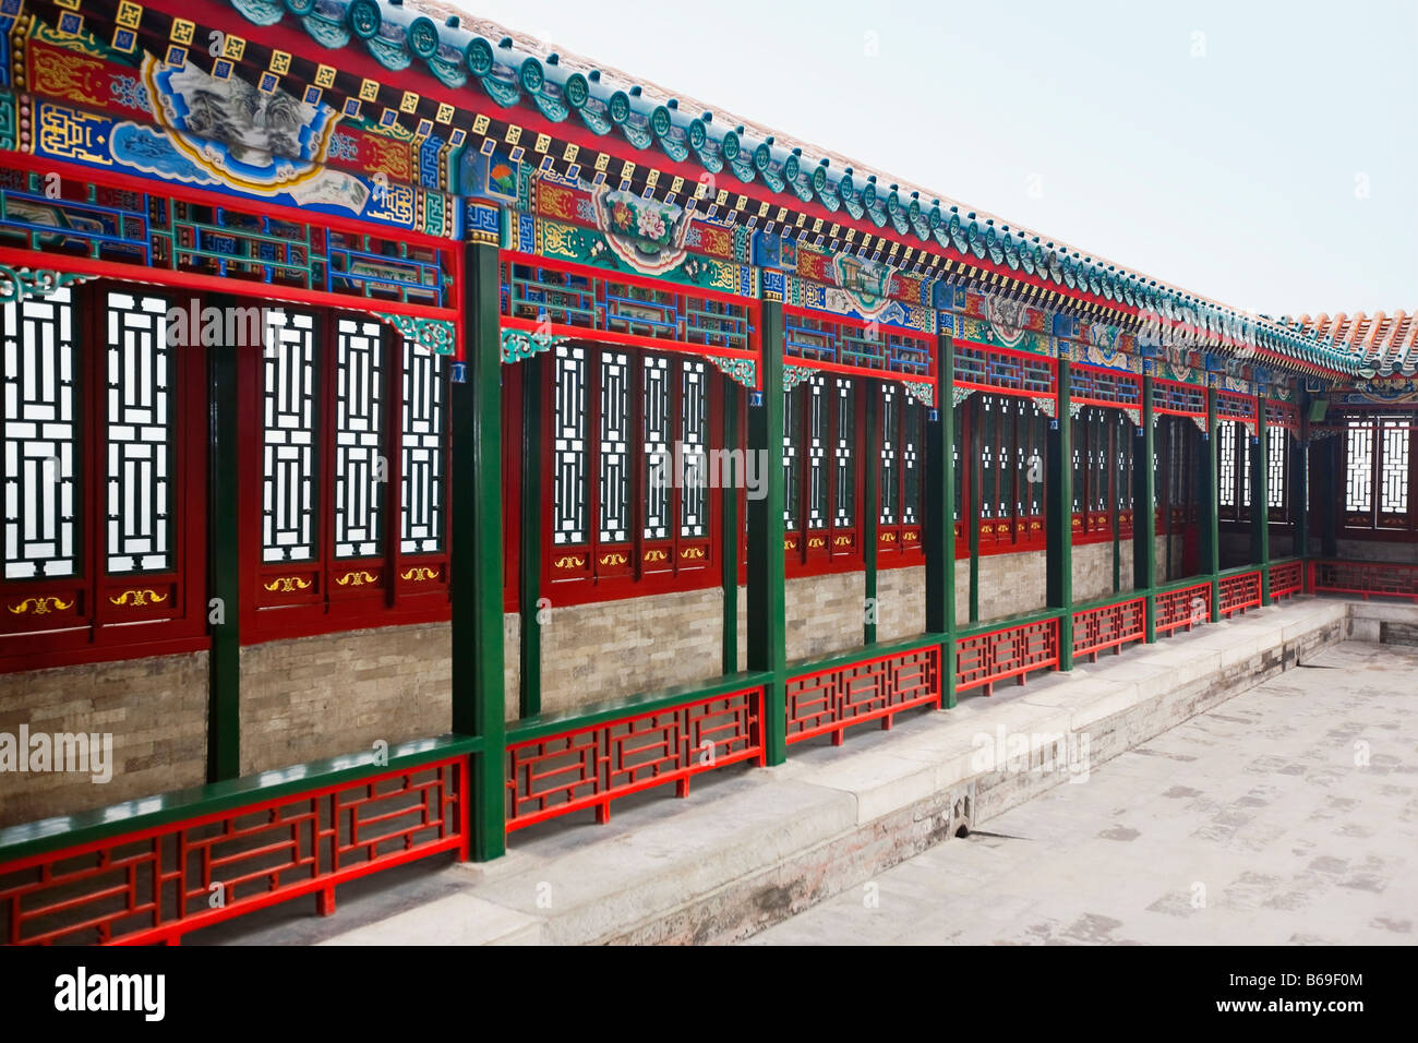
<path id="1" fill-rule="evenodd" d="M 1412 944 L 1415 711 L 1336 646 L 749 944 Z"/>

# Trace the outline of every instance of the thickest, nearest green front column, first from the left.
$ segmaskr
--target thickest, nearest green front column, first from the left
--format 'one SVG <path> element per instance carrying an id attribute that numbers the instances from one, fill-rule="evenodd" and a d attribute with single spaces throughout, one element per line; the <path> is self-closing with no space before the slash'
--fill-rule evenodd
<path id="1" fill-rule="evenodd" d="M 506 850 L 502 680 L 502 348 L 498 248 L 464 247 L 464 382 L 452 385 L 452 729 L 482 738 L 474 758 L 472 849 Z"/>

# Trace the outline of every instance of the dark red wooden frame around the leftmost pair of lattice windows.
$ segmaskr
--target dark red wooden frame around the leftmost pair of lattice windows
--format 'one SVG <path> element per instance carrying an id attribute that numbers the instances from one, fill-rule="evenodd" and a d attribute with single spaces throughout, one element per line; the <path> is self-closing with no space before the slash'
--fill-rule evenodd
<path id="1" fill-rule="evenodd" d="M 169 308 L 177 301 L 162 287 L 109 280 L 74 285 L 69 292 L 74 424 L 78 429 L 74 490 L 78 565 L 74 576 L 0 578 L 0 599 L 7 607 L 0 613 L 0 673 L 194 651 L 207 646 L 207 454 L 203 448 L 210 440 L 206 349 L 200 343 L 173 346 L 167 356 L 170 568 L 109 572 L 105 491 L 108 294 L 155 298 Z M 23 335 L 23 328 L 17 332 Z M 7 373 L 6 379 L 14 376 Z"/>

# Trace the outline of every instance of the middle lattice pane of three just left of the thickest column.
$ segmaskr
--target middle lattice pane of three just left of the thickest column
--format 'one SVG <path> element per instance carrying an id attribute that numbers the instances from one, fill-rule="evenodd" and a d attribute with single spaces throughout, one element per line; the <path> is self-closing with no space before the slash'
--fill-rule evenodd
<path id="1" fill-rule="evenodd" d="M 335 556 L 381 552 L 384 490 L 384 325 L 340 316 L 335 365 Z"/>

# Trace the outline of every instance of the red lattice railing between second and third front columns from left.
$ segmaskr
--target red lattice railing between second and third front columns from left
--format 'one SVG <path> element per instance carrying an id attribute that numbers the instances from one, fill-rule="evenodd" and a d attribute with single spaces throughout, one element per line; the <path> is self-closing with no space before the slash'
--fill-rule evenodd
<path id="1" fill-rule="evenodd" d="M 831 732 L 841 745 L 854 724 L 891 728 L 898 712 L 922 705 L 940 705 L 939 644 L 790 677 L 787 741 Z"/>

